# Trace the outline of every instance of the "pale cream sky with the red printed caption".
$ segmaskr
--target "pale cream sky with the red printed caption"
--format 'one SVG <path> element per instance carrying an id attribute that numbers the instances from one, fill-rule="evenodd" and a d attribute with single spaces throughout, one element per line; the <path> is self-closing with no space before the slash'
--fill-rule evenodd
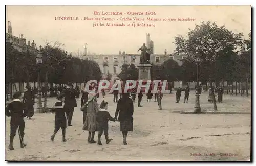
<path id="1" fill-rule="evenodd" d="M 94 15 L 94 11 L 100 15 Z M 102 12 L 122 12 L 123 15 L 102 15 Z M 141 12 L 144 15 L 129 15 Z M 156 15 L 145 15 L 155 12 Z M 154 13 L 152 13 L 154 14 Z M 55 20 L 57 17 L 78 17 L 79 20 Z M 88 18 L 114 18 L 114 21 L 84 20 Z M 121 21 L 120 18 L 134 17 L 140 19 L 173 18 L 176 21 Z M 190 18 L 194 21 L 177 21 L 178 18 Z M 175 50 L 174 37 L 186 36 L 189 29 L 194 29 L 202 21 L 217 22 L 225 25 L 235 33 L 242 32 L 248 38 L 251 30 L 250 6 L 7 6 L 6 31 L 8 21 L 12 23 L 13 35 L 23 34 L 27 42 L 35 41 L 36 45 L 44 46 L 46 42 L 58 41 L 72 54 L 84 54 L 87 50 L 95 54 L 136 54 L 138 48 L 146 42 L 146 33 L 150 33 L 154 41 L 154 54 L 172 54 Z M 135 22 L 154 24 L 155 27 L 127 27 Z M 93 23 L 104 23 L 95 26 Z M 106 27 L 106 23 L 124 23 L 125 27 Z"/>

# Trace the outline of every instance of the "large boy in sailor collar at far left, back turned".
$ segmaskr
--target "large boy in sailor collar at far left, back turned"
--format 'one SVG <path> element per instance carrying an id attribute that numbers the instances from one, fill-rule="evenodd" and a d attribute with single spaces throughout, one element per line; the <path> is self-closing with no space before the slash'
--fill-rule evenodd
<path id="1" fill-rule="evenodd" d="M 27 145 L 24 143 L 24 140 L 23 140 L 24 129 L 25 129 L 25 122 L 23 118 L 27 116 L 27 109 L 24 103 L 20 100 L 21 98 L 22 98 L 22 93 L 15 92 L 13 94 L 13 100 L 6 107 L 6 116 L 11 117 L 10 144 L 8 146 L 9 150 L 14 150 L 13 139 L 14 139 L 14 136 L 16 135 L 17 128 L 19 133 L 20 148 L 24 148 Z"/>

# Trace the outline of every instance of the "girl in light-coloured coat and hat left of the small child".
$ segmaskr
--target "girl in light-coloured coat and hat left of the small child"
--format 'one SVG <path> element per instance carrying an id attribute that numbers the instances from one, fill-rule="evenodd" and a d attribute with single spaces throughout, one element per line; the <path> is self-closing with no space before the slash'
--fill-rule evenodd
<path id="1" fill-rule="evenodd" d="M 89 143 L 96 143 L 94 141 L 95 131 L 98 131 L 98 126 L 96 122 L 97 112 L 99 111 L 99 104 L 96 99 L 97 96 L 90 93 L 88 94 L 88 101 L 86 102 L 86 120 L 84 121 L 83 130 L 88 131 L 88 139 Z"/>

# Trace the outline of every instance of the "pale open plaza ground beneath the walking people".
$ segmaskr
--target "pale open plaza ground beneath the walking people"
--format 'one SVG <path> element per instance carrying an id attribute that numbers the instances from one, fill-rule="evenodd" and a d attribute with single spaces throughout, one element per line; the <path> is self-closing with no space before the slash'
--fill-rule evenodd
<path id="1" fill-rule="evenodd" d="M 76 161 L 248 161 L 251 148 L 251 99 L 241 96 L 223 96 L 223 103 L 217 103 L 219 114 L 209 103 L 208 92 L 200 95 L 200 104 L 206 114 L 184 114 L 193 112 L 195 92 L 190 92 L 188 104 L 182 92 L 180 103 L 176 104 L 175 92 L 164 94 L 162 110 L 146 95 L 141 105 L 134 103 L 134 130 L 127 136 L 128 145 L 123 145 L 119 122 L 109 122 L 109 136 L 113 138 L 103 145 L 87 142 L 88 132 L 82 130 L 80 99 L 75 108 L 72 125 L 66 130 L 66 143 L 62 143 L 61 130 L 54 142 L 50 140 L 54 130 L 54 113 L 35 113 L 32 120 L 25 120 L 26 149 L 19 147 L 18 132 L 14 138 L 14 151 L 8 150 L 10 118 L 6 117 L 6 160 L 76 160 Z M 113 94 L 104 99 L 109 102 L 111 116 L 115 116 L 117 103 Z M 55 98 L 48 98 L 52 107 Z M 98 103 L 102 101 L 102 95 Z M 36 110 L 37 103 L 34 108 Z M 97 133 L 95 140 L 97 140 Z"/>

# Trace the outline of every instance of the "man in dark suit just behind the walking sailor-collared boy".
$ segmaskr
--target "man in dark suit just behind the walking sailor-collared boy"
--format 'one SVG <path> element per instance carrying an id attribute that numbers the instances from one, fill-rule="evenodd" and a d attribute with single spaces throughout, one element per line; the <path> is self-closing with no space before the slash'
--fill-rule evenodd
<path id="1" fill-rule="evenodd" d="M 63 94 L 65 96 L 65 105 L 66 105 L 66 115 L 68 119 L 68 126 L 71 125 L 73 113 L 74 113 L 74 108 L 77 107 L 76 103 L 76 91 L 75 89 L 72 88 L 72 83 L 68 82 L 67 88 L 63 90 Z"/>

